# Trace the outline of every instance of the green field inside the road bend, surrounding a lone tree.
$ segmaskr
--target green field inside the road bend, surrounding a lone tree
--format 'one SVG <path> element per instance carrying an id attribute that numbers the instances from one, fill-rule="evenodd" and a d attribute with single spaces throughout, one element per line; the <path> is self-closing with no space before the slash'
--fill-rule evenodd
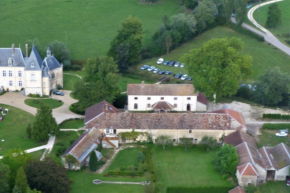
<path id="1" fill-rule="evenodd" d="M 276 4 L 279 6 L 279 8 L 282 11 L 282 23 L 279 24 L 276 29 L 268 29 L 266 25 L 267 21 L 267 11 L 270 5 L 264 5 L 260 7 L 260 13 L 259 13 L 259 21 L 258 23 L 261 24 L 263 27 L 266 27 L 266 29 L 270 30 L 274 35 L 283 35 L 285 33 L 290 32 L 290 1 L 281 1 L 281 2 L 276 2 Z M 253 13 L 254 19 L 257 21 L 258 19 L 258 9 Z"/>

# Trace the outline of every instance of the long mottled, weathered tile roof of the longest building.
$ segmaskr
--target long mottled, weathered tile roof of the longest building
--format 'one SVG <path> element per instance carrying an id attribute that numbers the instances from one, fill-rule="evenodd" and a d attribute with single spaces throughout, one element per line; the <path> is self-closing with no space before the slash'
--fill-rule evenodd
<path id="1" fill-rule="evenodd" d="M 92 127 L 100 129 L 244 129 L 229 115 L 214 113 L 104 113 L 86 125 L 86 128 Z"/>

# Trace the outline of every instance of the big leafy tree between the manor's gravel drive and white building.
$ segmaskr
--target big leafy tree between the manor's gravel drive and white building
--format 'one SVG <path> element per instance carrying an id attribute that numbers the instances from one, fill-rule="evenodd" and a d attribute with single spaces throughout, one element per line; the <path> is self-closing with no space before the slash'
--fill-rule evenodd
<path id="1" fill-rule="evenodd" d="M 75 85 L 79 105 L 87 108 L 102 100 L 112 103 L 119 94 L 117 82 L 120 77 L 114 59 L 108 56 L 88 59 L 84 71 L 83 81 Z"/>

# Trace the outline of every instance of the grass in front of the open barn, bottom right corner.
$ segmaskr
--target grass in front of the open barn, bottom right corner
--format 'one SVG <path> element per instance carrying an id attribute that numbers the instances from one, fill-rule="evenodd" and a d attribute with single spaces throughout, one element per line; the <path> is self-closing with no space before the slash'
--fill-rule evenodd
<path id="1" fill-rule="evenodd" d="M 259 186 L 261 193 L 287 193 L 290 191 L 290 187 L 283 181 L 267 181 L 266 184 Z"/>

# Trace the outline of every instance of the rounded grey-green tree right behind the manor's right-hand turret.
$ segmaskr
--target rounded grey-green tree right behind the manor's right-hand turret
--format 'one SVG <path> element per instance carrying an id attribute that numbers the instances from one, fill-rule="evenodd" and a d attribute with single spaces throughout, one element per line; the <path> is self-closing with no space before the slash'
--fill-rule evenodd
<path id="1" fill-rule="evenodd" d="M 58 62 L 67 62 L 70 61 L 69 49 L 63 42 L 54 40 L 53 42 L 47 44 L 47 47 L 50 48 L 51 54 L 58 60 Z"/>

